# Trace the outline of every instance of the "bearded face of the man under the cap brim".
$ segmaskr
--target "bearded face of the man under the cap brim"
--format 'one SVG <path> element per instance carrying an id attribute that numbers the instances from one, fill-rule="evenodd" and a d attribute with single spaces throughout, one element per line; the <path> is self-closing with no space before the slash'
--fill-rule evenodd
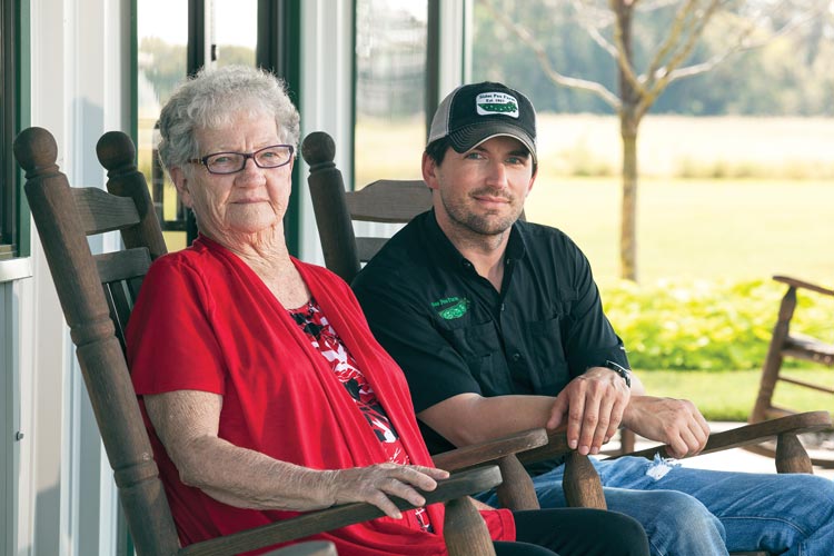
<path id="1" fill-rule="evenodd" d="M 533 157 L 512 137 L 495 137 L 464 153 L 449 148 L 440 166 L 424 155 L 423 177 L 447 232 L 496 236 L 513 226 L 533 189 Z"/>

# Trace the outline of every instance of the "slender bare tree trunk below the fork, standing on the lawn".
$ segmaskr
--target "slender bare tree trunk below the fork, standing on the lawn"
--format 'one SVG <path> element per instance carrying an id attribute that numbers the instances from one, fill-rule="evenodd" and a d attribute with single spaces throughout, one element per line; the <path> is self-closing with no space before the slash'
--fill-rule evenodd
<path id="1" fill-rule="evenodd" d="M 639 121 L 620 115 L 623 205 L 619 228 L 619 277 L 637 281 L 637 129 Z"/>

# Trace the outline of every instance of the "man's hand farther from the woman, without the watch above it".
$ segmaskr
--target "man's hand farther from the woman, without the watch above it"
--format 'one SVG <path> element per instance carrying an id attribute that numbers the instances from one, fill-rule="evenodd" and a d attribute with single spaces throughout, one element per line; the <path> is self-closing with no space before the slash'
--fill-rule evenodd
<path id="1" fill-rule="evenodd" d="M 709 425 L 687 399 L 634 396 L 623 425 L 651 440 L 668 444 L 671 456 L 692 456 L 704 449 Z"/>

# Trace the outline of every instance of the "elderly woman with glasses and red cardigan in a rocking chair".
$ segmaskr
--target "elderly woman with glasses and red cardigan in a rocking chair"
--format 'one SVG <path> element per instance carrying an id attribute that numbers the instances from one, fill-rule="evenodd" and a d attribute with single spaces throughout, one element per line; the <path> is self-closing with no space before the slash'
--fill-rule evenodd
<path id="1" fill-rule="evenodd" d="M 431 467 L 401 371 L 348 286 L 287 251 L 299 117 L 281 82 L 201 72 L 165 106 L 160 132 L 200 236 L 153 264 L 127 340 L 182 544 L 367 502 L 387 517 L 320 538 L 340 555 L 444 554 L 443 505 L 400 513 L 389 498 L 421 505 L 415 487 L 448 475 Z M 647 554 L 618 514 L 483 515 L 499 554 Z"/>

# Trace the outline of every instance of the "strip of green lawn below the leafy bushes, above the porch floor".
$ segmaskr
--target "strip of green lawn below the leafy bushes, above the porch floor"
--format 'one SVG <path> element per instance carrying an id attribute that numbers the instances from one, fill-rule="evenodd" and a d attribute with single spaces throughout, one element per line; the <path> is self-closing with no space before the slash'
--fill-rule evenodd
<path id="1" fill-rule="evenodd" d="M 785 375 L 834 388 L 832 369 L 791 369 Z M 753 409 L 761 371 L 651 370 L 642 371 L 639 376 L 649 394 L 689 399 L 707 420 L 744 421 Z M 798 411 L 827 409 L 834 413 L 834 396 L 778 384 L 774 405 Z"/>

